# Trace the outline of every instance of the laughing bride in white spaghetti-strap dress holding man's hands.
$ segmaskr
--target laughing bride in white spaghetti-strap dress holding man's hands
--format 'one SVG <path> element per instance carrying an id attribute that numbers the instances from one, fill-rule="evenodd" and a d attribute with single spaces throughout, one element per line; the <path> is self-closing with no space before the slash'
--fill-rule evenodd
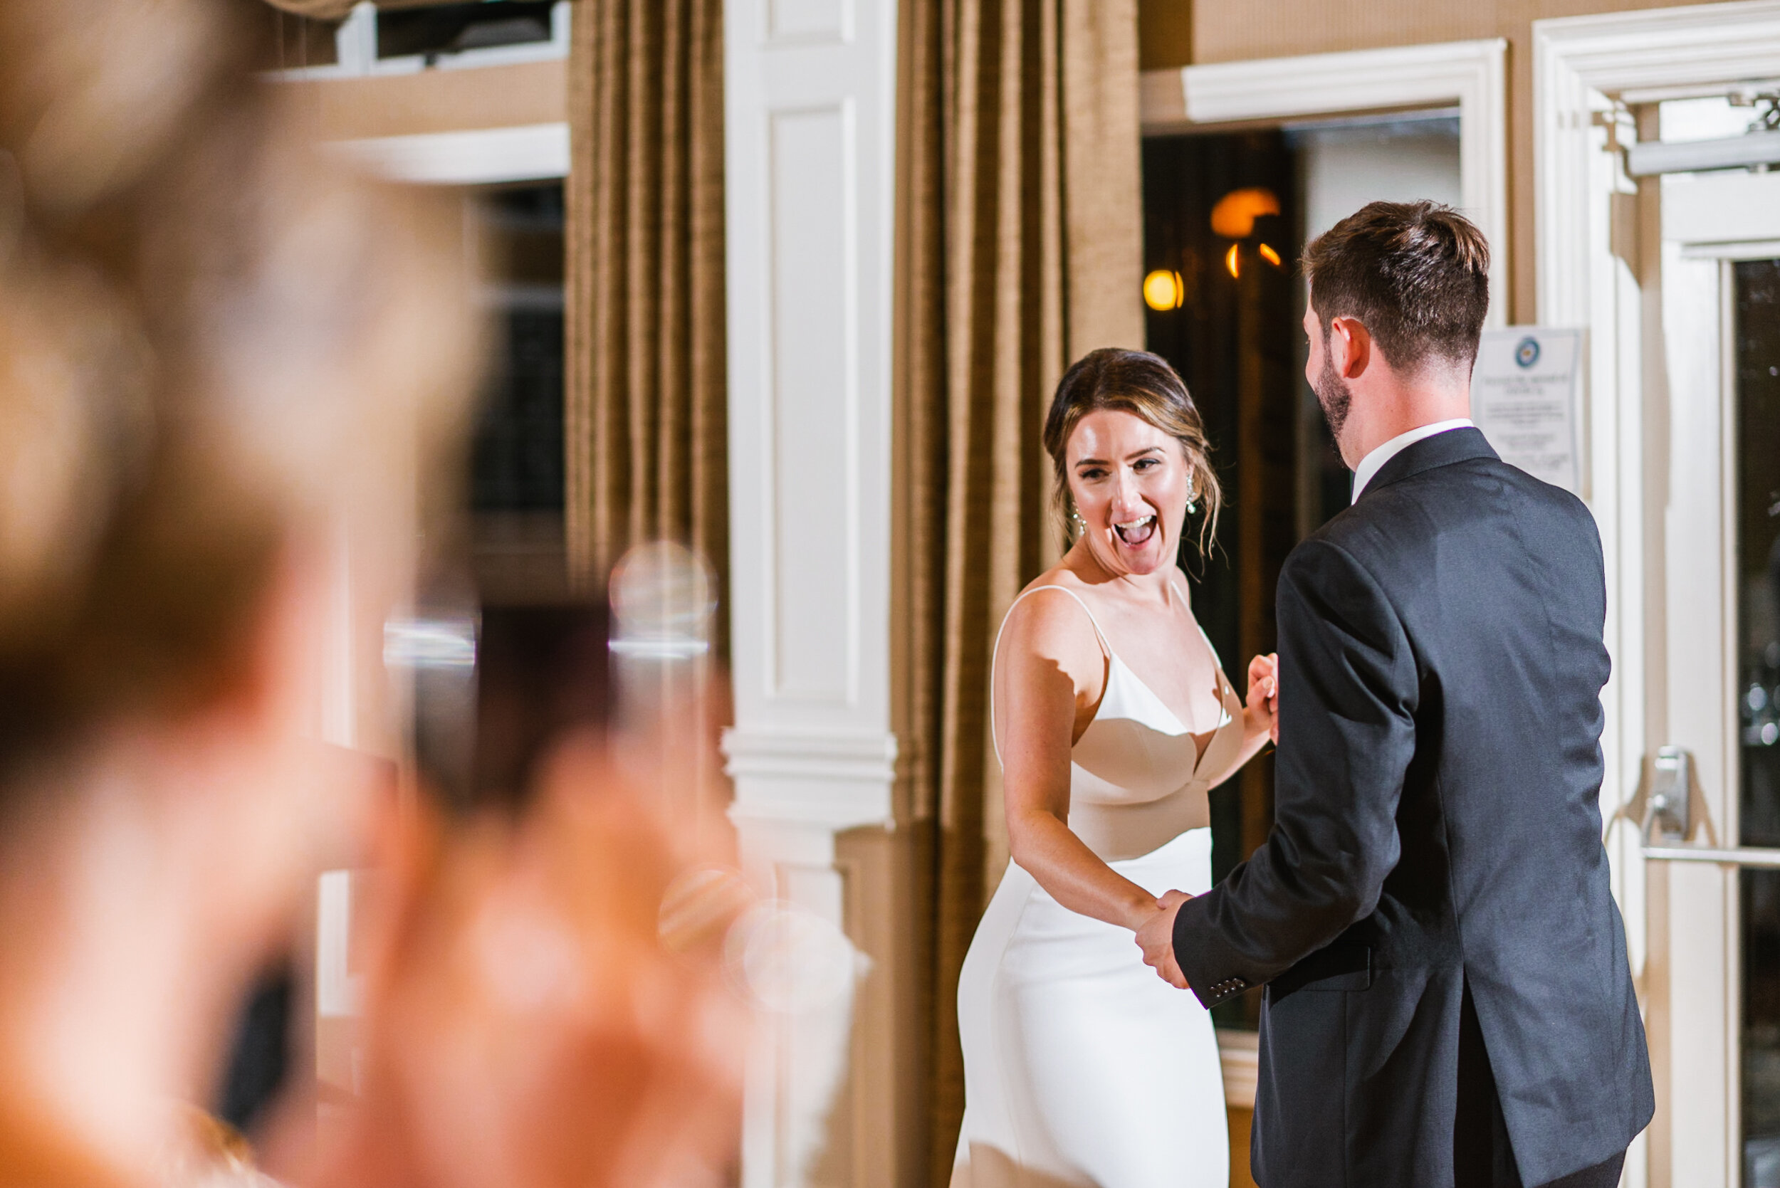
<path id="1" fill-rule="evenodd" d="M 1273 656 L 1225 678 L 1177 557 L 1219 491 L 1175 370 L 1095 350 L 1045 423 L 1075 537 L 1007 610 L 991 729 L 1013 861 L 958 985 L 965 1122 L 952 1188 L 1223 1188 L 1230 1136 L 1210 1015 L 1132 934 L 1210 887 L 1205 793 L 1266 743 Z"/>

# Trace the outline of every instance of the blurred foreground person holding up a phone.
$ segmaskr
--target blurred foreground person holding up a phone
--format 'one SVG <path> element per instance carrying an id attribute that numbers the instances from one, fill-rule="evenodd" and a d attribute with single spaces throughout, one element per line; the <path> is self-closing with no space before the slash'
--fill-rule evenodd
<path id="1" fill-rule="evenodd" d="M 237 11 L 0 5 L 0 1184 L 174 1179 L 173 1103 L 370 827 L 312 742 L 342 525 L 354 598 L 399 598 L 463 420 L 461 228 L 322 167 Z M 386 823 L 367 1120 L 315 1176 L 630 1188 L 721 1147 L 742 1028 L 657 939 L 680 859 L 559 770 L 584 799 L 513 832 Z"/>

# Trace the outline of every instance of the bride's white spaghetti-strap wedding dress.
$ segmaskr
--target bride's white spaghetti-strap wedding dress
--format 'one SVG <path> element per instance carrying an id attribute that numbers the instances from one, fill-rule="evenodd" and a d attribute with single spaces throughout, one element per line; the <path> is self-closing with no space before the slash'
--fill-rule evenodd
<path id="1" fill-rule="evenodd" d="M 1082 603 L 1057 585 L 1020 598 L 1040 590 Z M 1086 603 L 1082 610 L 1093 622 Z M 1100 624 L 1093 628 L 1107 654 L 1107 686 L 1070 756 L 1070 829 L 1146 891 L 1209 891 L 1205 793 L 1241 759 L 1242 702 L 1212 653 L 1225 715 L 1200 754 Z M 1230 1183 L 1210 1015 L 1143 964 L 1127 928 L 1068 911 L 1016 863 L 1007 863 L 965 955 L 958 1031 L 965 1122 L 952 1188 Z"/>

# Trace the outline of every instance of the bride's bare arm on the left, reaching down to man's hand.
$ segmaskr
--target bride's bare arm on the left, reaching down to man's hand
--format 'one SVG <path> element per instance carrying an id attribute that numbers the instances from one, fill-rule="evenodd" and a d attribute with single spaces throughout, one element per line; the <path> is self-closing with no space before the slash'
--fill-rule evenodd
<path id="1" fill-rule="evenodd" d="M 1061 594 L 1020 603 L 1007 619 L 995 678 L 1013 861 L 1070 911 L 1136 930 L 1159 911 L 1155 896 L 1068 827 L 1075 726 L 1105 686 L 1105 654 L 1082 608 Z"/>

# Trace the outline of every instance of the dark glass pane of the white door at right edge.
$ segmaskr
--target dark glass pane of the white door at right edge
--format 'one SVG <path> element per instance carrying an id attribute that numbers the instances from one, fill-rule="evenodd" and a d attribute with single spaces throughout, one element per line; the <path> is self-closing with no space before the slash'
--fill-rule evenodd
<path id="1" fill-rule="evenodd" d="M 1734 270 L 1739 820 L 1780 847 L 1780 260 Z M 1780 1188 L 1780 871 L 1741 879 L 1743 1183 Z"/>

